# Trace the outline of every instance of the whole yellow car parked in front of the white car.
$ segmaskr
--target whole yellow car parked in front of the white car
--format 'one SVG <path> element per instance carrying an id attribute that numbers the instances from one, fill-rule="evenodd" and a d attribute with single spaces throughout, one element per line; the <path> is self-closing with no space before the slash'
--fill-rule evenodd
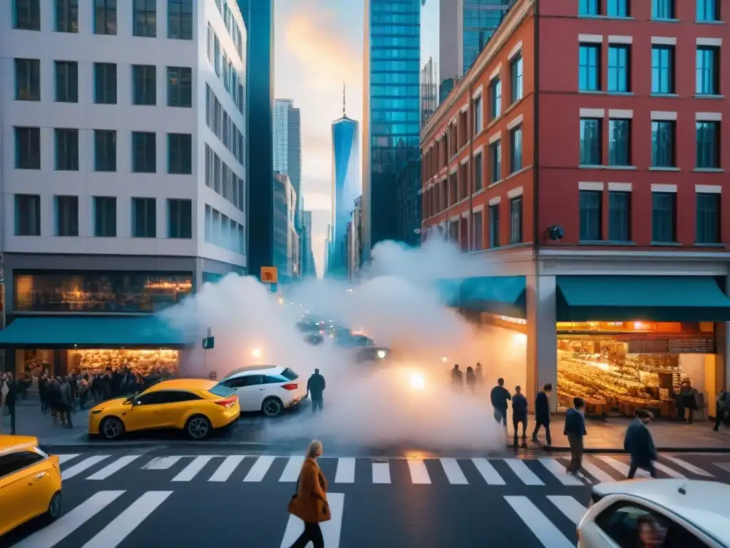
<path id="1" fill-rule="evenodd" d="M 240 414 L 234 389 L 215 381 L 179 378 L 161 381 L 132 397 L 99 403 L 89 413 L 89 435 L 114 440 L 125 432 L 177 428 L 202 440 Z"/>

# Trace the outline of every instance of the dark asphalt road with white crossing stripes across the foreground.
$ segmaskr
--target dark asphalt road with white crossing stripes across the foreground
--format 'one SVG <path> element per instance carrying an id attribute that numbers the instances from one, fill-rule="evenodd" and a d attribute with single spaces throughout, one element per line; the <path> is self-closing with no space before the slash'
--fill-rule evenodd
<path id="1" fill-rule="evenodd" d="M 61 455 L 64 514 L 0 539 L 18 548 L 288 548 L 301 530 L 286 506 L 302 457 L 151 449 Z M 730 454 L 662 455 L 664 477 L 730 483 Z M 587 476 L 562 458 L 323 457 L 333 519 L 328 548 L 574 547 L 591 484 L 622 479 L 626 457 L 590 455 Z"/>

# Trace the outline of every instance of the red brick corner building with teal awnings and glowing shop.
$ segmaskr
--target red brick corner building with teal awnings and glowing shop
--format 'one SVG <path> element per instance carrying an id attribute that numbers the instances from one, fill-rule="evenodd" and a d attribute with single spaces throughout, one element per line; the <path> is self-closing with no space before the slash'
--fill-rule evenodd
<path id="1" fill-rule="evenodd" d="M 422 237 L 469 252 L 462 308 L 526 333 L 532 395 L 671 416 L 689 378 L 712 415 L 727 387 L 714 7 L 520 0 L 423 128 Z"/>

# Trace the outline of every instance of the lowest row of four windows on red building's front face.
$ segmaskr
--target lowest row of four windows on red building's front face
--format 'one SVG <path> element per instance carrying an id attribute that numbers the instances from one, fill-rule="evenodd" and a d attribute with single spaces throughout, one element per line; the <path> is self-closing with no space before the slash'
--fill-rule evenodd
<path id="1" fill-rule="evenodd" d="M 604 192 L 580 191 L 580 240 L 594 242 L 604 238 Z M 721 243 L 721 194 L 696 194 L 697 244 Z M 631 241 L 631 192 L 608 192 L 608 238 L 612 242 Z M 677 193 L 652 192 L 652 243 L 677 242 Z"/>

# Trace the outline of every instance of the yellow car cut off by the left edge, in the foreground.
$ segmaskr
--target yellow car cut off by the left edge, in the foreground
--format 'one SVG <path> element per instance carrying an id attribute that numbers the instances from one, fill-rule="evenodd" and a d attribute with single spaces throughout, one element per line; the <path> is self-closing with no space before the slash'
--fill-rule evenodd
<path id="1" fill-rule="evenodd" d="M 58 457 L 28 435 L 0 435 L 0 536 L 36 517 L 61 515 Z"/>

